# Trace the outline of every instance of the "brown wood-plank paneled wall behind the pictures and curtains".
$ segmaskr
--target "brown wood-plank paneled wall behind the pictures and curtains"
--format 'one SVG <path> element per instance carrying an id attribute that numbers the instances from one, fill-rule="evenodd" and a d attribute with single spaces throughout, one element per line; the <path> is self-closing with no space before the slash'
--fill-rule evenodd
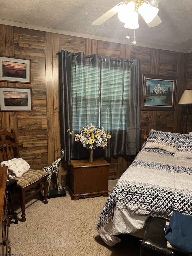
<path id="1" fill-rule="evenodd" d="M 192 89 L 192 54 L 111 43 L 0 24 L 0 55 L 32 60 L 33 111 L 0 112 L 0 128 L 14 128 L 22 158 L 31 168 L 42 169 L 60 156 L 58 51 L 98 53 L 114 58 L 140 59 L 141 73 L 177 76 L 175 111 L 142 111 L 142 133 L 151 128 L 182 132 L 184 108 L 178 105 L 185 88 Z M 25 87 L 22 83 L 0 82 L 0 86 Z M 27 85 L 29 86 L 29 85 Z M 188 127 L 191 130 L 191 114 Z M 187 129 L 188 130 L 188 129 Z M 107 158 L 109 179 L 117 179 L 134 156 Z M 69 185 L 70 163 L 62 162 L 59 179 Z"/>

